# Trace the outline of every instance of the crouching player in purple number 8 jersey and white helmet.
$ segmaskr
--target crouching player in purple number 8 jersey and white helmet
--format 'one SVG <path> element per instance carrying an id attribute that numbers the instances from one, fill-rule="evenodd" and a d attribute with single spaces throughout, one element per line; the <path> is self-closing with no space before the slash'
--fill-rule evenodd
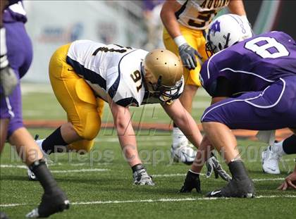
<path id="1" fill-rule="evenodd" d="M 249 39 L 244 33 L 244 25 L 235 15 L 223 15 L 211 23 L 207 49 L 214 55 L 202 65 L 201 80 L 212 96 L 212 105 L 202 115 L 206 136 L 181 192 L 199 184 L 198 173 L 204 165 L 201 154 L 204 151 L 207 157 L 206 145 L 211 144 L 225 158 L 233 179 L 207 196 L 253 197 L 254 184 L 231 129 L 290 127 L 296 132 L 295 41 L 284 32 Z"/>

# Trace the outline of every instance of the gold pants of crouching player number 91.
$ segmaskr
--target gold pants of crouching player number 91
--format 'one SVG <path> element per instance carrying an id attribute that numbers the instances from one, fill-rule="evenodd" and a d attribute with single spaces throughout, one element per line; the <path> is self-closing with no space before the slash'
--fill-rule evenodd
<path id="1" fill-rule="evenodd" d="M 101 127 L 104 101 L 96 99 L 87 82 L 66 63 L 70 44 L 61 46 L 51 56 L 49 78 L 56 99 L 67 113 L 68 121 L 83 140 L 73 142 L 70 149 L 90 151 Z"/>

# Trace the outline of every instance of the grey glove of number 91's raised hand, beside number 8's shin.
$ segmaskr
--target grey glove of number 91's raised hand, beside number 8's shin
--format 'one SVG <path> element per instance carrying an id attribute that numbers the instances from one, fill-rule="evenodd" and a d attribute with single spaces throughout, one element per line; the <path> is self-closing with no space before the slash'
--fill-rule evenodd
<path id="1" fill-rule="evenodd" d="M 230 175 L 223 170 L 221 164 L 213 153 L 211 153 L 211 157 L 206 161 L 206 169 L 207 178 L 211 177 L 211 174 L 214 172 L 216 179 L 220 176 L 225 181 L 231 180 Z"/>

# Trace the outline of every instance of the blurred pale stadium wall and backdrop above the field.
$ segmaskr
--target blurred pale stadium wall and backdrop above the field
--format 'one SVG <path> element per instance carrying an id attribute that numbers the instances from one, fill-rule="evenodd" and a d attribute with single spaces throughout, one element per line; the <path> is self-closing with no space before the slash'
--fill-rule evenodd
<path id="1" fill-rule="evenodd" d="M 296 38 L 296 1 L 244 1 L 256 34 L 282 30 Z M 76 39 L 142 48 L 147 32 L 142 1 L 25 1 L 34 59 L 26 82 L 49 83 L 51 54 Z M 223 11 L 222 13 L 225 13 Z"/>

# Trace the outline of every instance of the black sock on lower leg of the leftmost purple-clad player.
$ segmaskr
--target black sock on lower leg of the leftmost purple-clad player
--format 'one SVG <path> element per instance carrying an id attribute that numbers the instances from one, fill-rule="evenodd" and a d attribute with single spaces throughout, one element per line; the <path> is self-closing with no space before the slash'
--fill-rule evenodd
<path id="1" fill-rule="evenodd" d="M 45 161 L 38 160 L 29 166 L 30 170 L 35 174 L 45 193 L 51 193 L 56 189 L 57 183 L 54 177 L 49 172 Z"/>

